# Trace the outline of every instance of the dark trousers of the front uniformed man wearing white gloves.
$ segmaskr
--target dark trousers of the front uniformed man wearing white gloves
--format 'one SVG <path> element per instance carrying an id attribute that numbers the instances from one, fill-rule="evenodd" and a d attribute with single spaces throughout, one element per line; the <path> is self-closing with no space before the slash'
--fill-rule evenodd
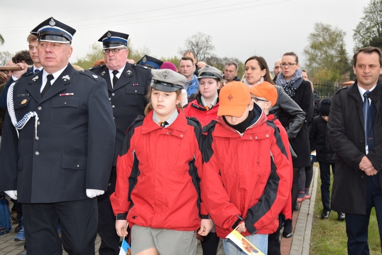
<path id="1" fill-rule="evenodd" d="M 28 255 L 95 254 L 97 236 L 97 199 L 23 203 L 25 244 Z M 60 218 L 61 240 L 57 234 Z"/>

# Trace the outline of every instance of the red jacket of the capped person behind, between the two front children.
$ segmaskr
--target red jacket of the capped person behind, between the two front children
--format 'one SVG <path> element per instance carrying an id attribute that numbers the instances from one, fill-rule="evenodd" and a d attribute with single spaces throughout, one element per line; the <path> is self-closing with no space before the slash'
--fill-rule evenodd
<path id="1" fill-rule="evenodd" d="M 207 110 L 202 104 L 201 96 L 201 94 L 198 94 L 196 99 L 190 101 L 184 107 L 184 115 L 197 118 L 202 126 L 205 126 L 211 122 L 211 120 L 216 120 L 217 118 L 217 109 L 219 109 L 219 97 L 217 98 L 216 105 Z"/>

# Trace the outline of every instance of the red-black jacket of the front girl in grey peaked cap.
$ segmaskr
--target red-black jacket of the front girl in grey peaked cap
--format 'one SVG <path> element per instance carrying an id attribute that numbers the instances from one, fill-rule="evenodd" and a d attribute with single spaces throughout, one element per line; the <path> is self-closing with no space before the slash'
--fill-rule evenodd
<path id="1" fill-rule="evenodd" d="M 201 128 L 178 112 L 167 128 L 152 120 L 153 111 L 129 127 L 110 197 L 117 219 L 177 231 L 199 228 Z"/>

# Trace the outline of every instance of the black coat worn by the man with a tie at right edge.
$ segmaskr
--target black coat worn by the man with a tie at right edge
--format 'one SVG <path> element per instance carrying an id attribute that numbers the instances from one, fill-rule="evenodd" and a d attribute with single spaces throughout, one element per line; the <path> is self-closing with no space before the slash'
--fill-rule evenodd
<path id="1" fill-rule="evenodd" d="M 369 98 L 376 107 L 373 126 L 375 147 L 366 156 L 379 172 L 382 169 L 381 86 L 378 81 L 377 86 L 369 93 Z M 328 130 L 336 160 L 331 207 L 337 212 L 365 215 L 366 179 L 370 177 L 359 169 L 359 164 L 366 155 L 362 104 L 357 81 L 349 87 L 339 89 L 332 100 Z M 382 184 L 382 175 L 378 175 L 379 183 Z"/>

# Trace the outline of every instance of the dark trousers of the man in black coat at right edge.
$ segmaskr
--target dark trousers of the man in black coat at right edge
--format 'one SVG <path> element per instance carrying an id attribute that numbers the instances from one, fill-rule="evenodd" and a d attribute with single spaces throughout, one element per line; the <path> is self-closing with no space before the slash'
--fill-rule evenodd
<path id="1" fill-rule="evenodd" d="M 382 191 L 374 184 L 371 176 L 366 178 L 366 215 L 346 214 L 347 252 L 349 255 L 370 254 L 367 238 L 372 207 L 375 207 L 379 239 L 382 243 Z"/>

